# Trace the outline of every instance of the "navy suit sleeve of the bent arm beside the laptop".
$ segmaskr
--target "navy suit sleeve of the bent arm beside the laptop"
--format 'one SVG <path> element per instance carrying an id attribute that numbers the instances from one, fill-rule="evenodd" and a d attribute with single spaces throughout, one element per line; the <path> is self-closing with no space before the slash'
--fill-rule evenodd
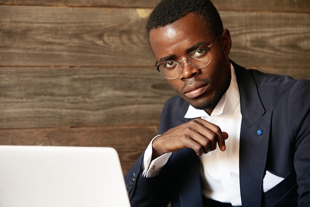
<path id="1" fill-rule="evenodd" d="M 164 105 L 159 134 L 183 124 L 188 119 L 184 115 L 189 104 L 178 96 L 170 98 Z M 142 175 L 144 153 L 139 157 L 125 176 L 130 204 L 132 207 L 167 207 L 169 203 L 169 188 L 171 185 L 171 169 L 169 160 L 161 169 L 161 172 L 154 177 L 146 178 Z"/>

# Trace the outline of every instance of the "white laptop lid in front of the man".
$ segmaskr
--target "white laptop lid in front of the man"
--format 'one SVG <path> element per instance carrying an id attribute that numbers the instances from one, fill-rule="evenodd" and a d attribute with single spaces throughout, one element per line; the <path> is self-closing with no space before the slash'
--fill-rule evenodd
<path id="1" fill-rule="evenodd" d="M 130 207 L 115 149 L 0 146 L 0 207 Z"/>

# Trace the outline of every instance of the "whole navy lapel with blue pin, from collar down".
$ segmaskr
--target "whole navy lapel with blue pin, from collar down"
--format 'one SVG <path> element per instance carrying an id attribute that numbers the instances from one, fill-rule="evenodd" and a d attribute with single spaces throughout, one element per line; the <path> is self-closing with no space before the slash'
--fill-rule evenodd
<path id="1" fill-rule="evenodd" d="M 242 206 L 261 207 L 272 111 L 265 112 L 252 74 L 233 65 L 242 113 L 239 153 Z"/>

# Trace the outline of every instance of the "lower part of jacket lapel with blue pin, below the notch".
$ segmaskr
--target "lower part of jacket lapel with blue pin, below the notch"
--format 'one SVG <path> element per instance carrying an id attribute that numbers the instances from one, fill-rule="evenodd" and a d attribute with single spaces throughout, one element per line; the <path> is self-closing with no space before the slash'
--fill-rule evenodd
<path id="1" fill-rule="evenodd" d="M 240 188 L 242 206 L 245 207 L 261 207 L 271 118 L 272 111 L 268 111 L 254 125 L 248 120 L 242 120 Z"/>

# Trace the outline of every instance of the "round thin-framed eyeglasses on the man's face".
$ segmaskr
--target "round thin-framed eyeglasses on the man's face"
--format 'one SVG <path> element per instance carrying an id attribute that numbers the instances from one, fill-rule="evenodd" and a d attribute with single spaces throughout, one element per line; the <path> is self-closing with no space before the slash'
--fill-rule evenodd
<path id="1" fill-rule="evenodd" d="M 211 62 L 210 48 L 212 47 L 214 42 L 219 38 L 221 33 L 212 41 L 211 44 L 207 45 L 207 47 L 194 50 L 187 56 L 186 59 L 181 61 L 170 60 L 161 63 L 158 66 L 156 66 L 158 63 L 156 62 L 154 68 L 157 69 L 165 78 L 175 79 L 182 74 L 183 66 L 181 65 L 181 62 L 183 61 L 187 61 L 187 63 L 195 69 L 201 69 L 206 67 Z"/>

